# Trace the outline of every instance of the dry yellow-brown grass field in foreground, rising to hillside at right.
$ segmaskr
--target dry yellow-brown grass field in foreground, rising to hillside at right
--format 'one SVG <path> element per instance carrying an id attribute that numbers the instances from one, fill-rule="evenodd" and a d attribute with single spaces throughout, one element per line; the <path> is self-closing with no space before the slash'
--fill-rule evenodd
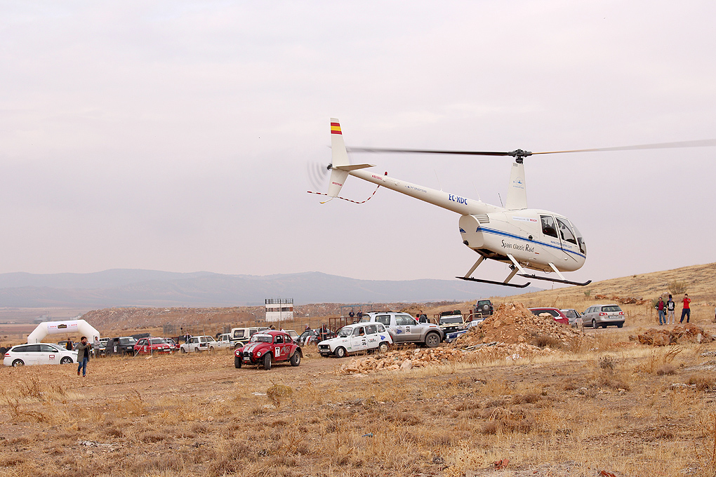
<path id="1" fill-rule="evenodd" d="M 513 300 L 584 310 L 694 279 L 692 322 L 716 333 L 706 267 Z M 630 342 L 654 317 L 624 309 L 548 355 L 357 375 L 314 348 L 269 371 L 228 351 L 4 367 L 0 476 L 715 476 L 716 342 Z"/>

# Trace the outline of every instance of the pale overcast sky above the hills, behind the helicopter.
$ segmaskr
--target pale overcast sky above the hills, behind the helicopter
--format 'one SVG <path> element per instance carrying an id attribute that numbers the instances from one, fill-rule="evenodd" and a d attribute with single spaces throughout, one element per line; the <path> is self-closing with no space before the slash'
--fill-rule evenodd
<path id="1" fill-rule="evenodd" d="M 713 1 L 2 1 L 0 272 L 464 275 L 477 255 L 454 212 L 384 189 L 363 205 L 306 193 L 329 118 L 349 146 L 712 139 L 714 18 Z M 528 205 L 584 233 L 574 280 L 714 262 L 715 159 L 528 157 Z M 498 205 L 511 167 L 368 160 Z M 342 195 L 368 197 L 359 182 Z"/>

